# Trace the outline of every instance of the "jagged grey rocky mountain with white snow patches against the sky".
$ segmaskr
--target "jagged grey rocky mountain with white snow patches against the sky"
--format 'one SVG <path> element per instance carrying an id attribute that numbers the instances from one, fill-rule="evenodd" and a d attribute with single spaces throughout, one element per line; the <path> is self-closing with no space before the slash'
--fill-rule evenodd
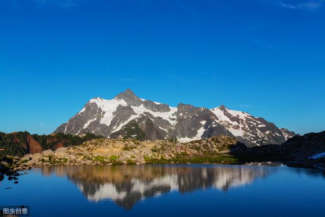
<path id="1" fill-rule="evenodd" d="M 212 136 L 237 138 L 248 147 L 281 144 L 295 135 L 261 117 L 219 106 L 180 103 L 177 107 L 140 99 L 131 89 L 112 100 L 93 98 L 55 133 L 93 133 L 110 138 L 172 139 L 180 142 Z"/>

